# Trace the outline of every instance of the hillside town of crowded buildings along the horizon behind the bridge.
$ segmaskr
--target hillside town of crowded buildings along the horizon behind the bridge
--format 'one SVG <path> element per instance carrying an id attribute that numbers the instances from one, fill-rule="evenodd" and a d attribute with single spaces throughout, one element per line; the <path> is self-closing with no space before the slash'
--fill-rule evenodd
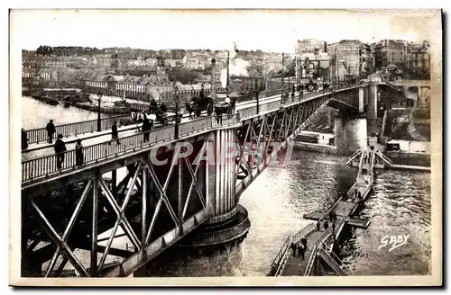
<path id="1" fill-rule="evenodd" d="M 23 86 L 72 87 L 143 101 L 170 101 L 174 91 L 211 89 L 235 95 L 290 87 L 313 79 L 328 84 L 360 81 L 375 73 L 387 81 L 427 80 L 428 41 L 297 40 L 293 53 L 211 49 L 130 49 L 40 46 L 23 50 Z M 228 70 L 227 72 L 227 63 Z M 227 74 L 230 80 L 227 80 Z M 229 82 L 227 84 L 227 82 Z M 174 88 L 176 87 L 176 88 Z"/>

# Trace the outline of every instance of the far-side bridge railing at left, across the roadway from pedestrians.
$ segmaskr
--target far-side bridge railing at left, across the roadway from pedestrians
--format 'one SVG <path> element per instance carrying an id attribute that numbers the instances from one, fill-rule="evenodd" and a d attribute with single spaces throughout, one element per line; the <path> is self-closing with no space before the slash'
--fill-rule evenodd
<path id="1" fill-rule="evenodd" d="M 114 121 L 118 121 L 119 124 L 126 124 L 131 122 L 130 115 L 121 115 L 114 117 L 107 117 L 100 119 L 100 128 L 106 130 L 111 128 Z M 69 124 L 62 124 L 55 126 L 56 134 L 62 134 L 64 137 L 75 136 L 79 134 L 91 133 L 97 131 L 97 119 L 81 121 Z M 27 139 L 29 143 L 40 143 L 49 139 L 47 130 L 45 128 L 26 130 Z M 53 138 L 56 138 L 54 135 Z"/>

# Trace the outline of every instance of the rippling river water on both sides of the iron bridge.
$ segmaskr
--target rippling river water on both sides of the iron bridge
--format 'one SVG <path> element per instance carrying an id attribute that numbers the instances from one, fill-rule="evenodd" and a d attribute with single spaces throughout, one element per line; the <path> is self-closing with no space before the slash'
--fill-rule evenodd
<path id="1" fill-rule="evenodd" d="M 97 118 L 96 112 L 51 106 L 23 97 L 23 128 Z M 312 210 L 326 210 L 354 183 L 356 168 L 343 165 L 344 156 L 294 150 L 296 165 L 270 165 L 242 194 L 240 204 L 249 212 L 252 227 L 241 247 L 240 272 L 262 276 L 289 235 L 312 222 L 302 219 Z M 369 228 L 345 228 L 338 255 L 355 275 L 419 275 L 430 272 L 430 174 L 377 171 L 369 199 L 357 215 L 371 219 Z M 382 247 L 385 236 L 410 235 L 391 251 Z M 212 273 L 212 275 L 214 275 Z"/>

